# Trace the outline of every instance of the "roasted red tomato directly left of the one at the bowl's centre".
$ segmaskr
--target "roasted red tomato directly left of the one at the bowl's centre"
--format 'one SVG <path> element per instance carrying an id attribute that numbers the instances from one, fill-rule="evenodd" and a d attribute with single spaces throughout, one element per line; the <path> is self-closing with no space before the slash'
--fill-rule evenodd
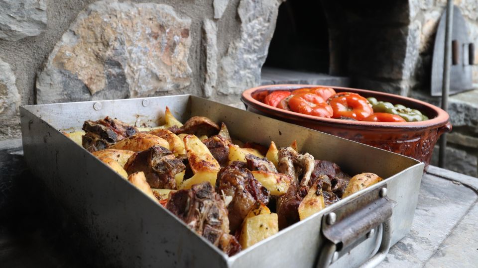
<path id="1" fill-rule="evenodd" d="M 289 99 L 289 107 L 294 112 L 330 118 L 332 107 L 322 97 L 313 93 L 300 93 Z"/>

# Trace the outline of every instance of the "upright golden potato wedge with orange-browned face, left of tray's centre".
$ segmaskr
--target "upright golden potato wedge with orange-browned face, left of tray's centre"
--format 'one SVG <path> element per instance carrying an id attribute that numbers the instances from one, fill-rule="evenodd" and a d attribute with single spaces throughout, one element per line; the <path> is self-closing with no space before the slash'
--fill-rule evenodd
<path id="1" fill-rule="evenodd" d="M 221 166 L 219 166 L 218 161 L 213 157 L 208 147 L 195 135 L 184 137 L 184 148 L 194 174 L 199 171 L 219 171 L 221 169 Z"/>

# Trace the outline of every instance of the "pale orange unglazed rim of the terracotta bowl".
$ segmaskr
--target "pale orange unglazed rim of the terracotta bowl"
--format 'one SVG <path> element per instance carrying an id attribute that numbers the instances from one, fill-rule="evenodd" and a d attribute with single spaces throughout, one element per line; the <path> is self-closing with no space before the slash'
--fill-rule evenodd
<path id="1" fill-rule="evenodd" d="M 355 92 L 363 92 L 366 94 L 374 94 L 374 95 L 379 95 L 379 96 L 385 96 L 389 98 L 396 98 L 402 101 L 411 101 L 415 102 L 419 105 L 423 105 L 428 107 L 429 109 L 434 110 L 437 113 L 437 116 L 425 120 L 425 121 L 418 121 L 418 122 L 398 122 L 398 123 L 392 123 L 392 122 L 368 122 L 368 121 L 349 121 L 349 120 L 343 120 L 343 119 L 335 119 L 335 118 L 325 118 L 325 117 L 318 117 L 318 116 L 313 116 L 313 115 L 307 115 L 307 114 L 302 114 L 302 113 L 297 113 L 293 111 L 288 111 L 288 110 L 283 110 L 279 109 L 277 107 L 272 107 L 270 105 L 267 105 L 263 102 L 260 102 L 256 100 L 255 98 L 252 97 L 252 93 L 256 91 L 265 91 L 265 90 L 291 90 L 291 89 L 302 89 L 302 88 L 332 88 L 332 89 L 340 89 L 340 90 L 351 90 Z M 271 112 L 278 114 L 280 117 L 286 117 L 289 119 L 293 120 L 302 120 L 302 121 L 312 121 L 312 122 L 320 122 L 320 123 L 329 123 L 329 124 L 340 124 L 340 125 L 347 125 L 350 127 L 362 127 L 362 126 L 373 126 L 374 128 L 401 128 L 401 129 L 413 129 L 416 130 L 417 128 L 433 128 L 433 127 L 438 127 L 438 126 L 443 126 L 447 124 L 447 122 L 450 119 L 450 116 L 446 111 L 443 109 L 410 97 L 405 97 L 405 96 L 400 96 L 396 94 L 391 94 L 391 93 L 386 93 L 386 92 L 381 92 L 381 91 L 373 91 L 373 90 L 367 90 L 367 89 L 354 89 L 354 88 L 346 88 L 346 87 L 335 87 L 335 86 L 322 86 L 322 85 L 304 85 L 304 84 L 278 84 L 278 85 L 264 85 L 264 86 L 259 86 L 259 87 L 254 87 L 250 89 L 246 89 L 242 92 L 242 97 L 241 100 L 246 104 L 246 105 L 251 105 L 252 107 L 258 109 L 259 111 L 265 112 L 266 114 L 270 114 Z"/>

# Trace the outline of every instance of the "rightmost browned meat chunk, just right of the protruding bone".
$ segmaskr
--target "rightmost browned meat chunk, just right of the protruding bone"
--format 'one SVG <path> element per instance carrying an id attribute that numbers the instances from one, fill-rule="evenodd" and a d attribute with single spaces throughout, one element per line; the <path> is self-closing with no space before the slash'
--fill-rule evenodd
<path id="1" fill-rule="evenodd" d="M 343 172 L 339 165 L 326 160 L 316 160 L 314 172 L 312 172 L 311 180 L 315 181 L 321 175 L 326 175 L 330 179 L 330 192 L 335 193 L 339 198 L 342 197 L 345 188 L 349 185 L 351 177 Z"/>

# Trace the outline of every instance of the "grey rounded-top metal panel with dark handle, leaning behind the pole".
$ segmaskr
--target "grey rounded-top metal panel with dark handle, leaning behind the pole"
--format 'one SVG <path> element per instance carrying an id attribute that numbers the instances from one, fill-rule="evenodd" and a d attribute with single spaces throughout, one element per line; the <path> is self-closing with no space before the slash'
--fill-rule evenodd
<path id="1" fill-rule="evenodd" d="M 446 10 L 438 25 L 432 62 L 432 96 L 442 95 L 443 63 L 445 58 Z M 450 94 L 473 89 L 472 65 L 475 64 L 475 45 L 470 41 L 465 18 L 460 8 L 453 6 L 452 65 Z"/>

